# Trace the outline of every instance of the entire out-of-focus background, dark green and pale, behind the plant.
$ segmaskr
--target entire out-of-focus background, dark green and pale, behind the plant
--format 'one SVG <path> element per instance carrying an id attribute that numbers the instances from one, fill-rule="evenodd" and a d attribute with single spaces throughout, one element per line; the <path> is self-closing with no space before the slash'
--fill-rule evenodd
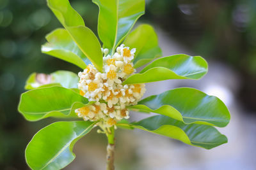
<path id="1" fill-rule="evenodd" d="M 97 6 L 90 0 L 70 2 L 97 34 Z M 199 81 L 148 83 L 145 97 L 175 87 L 195 87 L 220 97 L 232 117 L 220 129 L 229 141 L 204 150 L 148 132 L 120 129 L 117 169 L 256 169 L 256 1 L 146 2 L 146 14 L 139 22 L 154 25 L 164 56 L 200 55 L 209 62 L 209 73 Z M 40 53 L 45 34 L 57 27 L 61 25 L 45 0 L 0 1 L 0 169 L 29 169 L 24 159 L 26 145 L 39 129 L 56 121 L 26 122 L 17 112 L 29 74 L 80 71 Z M 131 115 L 132 120 L 148 117 Z M 74 152 L 76 160 L 65 169 L 104 169 L 106 138 L 93 130 Z"/>

